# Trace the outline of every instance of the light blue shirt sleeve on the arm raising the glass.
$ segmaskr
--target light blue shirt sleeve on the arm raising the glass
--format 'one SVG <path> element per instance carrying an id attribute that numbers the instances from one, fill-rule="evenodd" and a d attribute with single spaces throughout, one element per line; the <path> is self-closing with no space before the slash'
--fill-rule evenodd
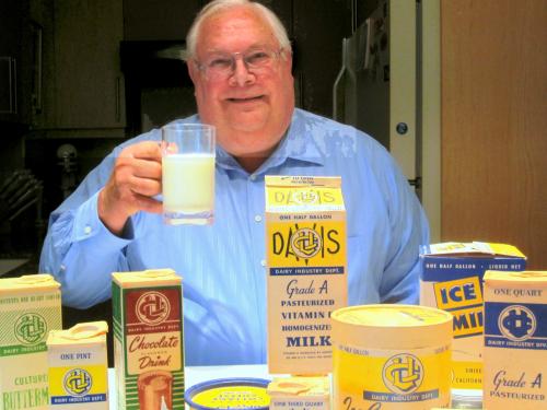
<path id="1" fill-rule="evenodd" d="M 86 308 L 110 297 L 110 274 L 127 270 L 125 248 L 132 241 L 128 222 L 124 237 L 112 234 L 97 213 L 98 191 L 106 183 L 114 154 L 93 169 L 49 218 L 39 271 L 61 283 L 62 303 Z"/>

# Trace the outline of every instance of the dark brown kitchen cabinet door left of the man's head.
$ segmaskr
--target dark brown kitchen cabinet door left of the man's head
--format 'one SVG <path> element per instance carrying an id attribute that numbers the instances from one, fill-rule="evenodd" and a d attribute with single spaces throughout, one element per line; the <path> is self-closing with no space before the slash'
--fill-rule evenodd
<path id="1" fill-rule="evenodd" d="M 50 112 L 39 127 L 119 129 L 123 136 L 121 0 L 54 0 L 53 14 L 53 70 L 45 84 Z"/>

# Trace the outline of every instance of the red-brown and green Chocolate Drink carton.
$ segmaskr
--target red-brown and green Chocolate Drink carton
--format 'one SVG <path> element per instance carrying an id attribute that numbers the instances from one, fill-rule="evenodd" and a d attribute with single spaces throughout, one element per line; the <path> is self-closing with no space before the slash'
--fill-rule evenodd
<path id="1" fill-rule="evenodd" d="M 181 282 L 171 269 L 113 273 L 119 410 L 184 409 Z"/>

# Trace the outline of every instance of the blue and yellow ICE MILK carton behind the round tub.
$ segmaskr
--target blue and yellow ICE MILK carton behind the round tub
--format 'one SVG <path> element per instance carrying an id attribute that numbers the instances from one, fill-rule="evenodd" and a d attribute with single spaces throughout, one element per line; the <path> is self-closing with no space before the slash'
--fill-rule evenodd
<path id="1" fill-rule="evenodd" d="M 442 243 L 420 253 L 420 304 L 454 316 L 452 388 L 482 388 L 482 277 L 485 271 L 522 271 L 526 257 L 514 246 Z"/>

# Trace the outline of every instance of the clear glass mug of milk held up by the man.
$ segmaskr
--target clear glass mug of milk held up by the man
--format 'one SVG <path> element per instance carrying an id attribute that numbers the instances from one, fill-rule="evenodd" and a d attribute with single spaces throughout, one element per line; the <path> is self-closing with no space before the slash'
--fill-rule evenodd
<path id="1" fill-rule="evenodd" d="M 173 122 L 162 128 L 163 219 L 208 225 L 214 216 L 216 128 Z"/>

